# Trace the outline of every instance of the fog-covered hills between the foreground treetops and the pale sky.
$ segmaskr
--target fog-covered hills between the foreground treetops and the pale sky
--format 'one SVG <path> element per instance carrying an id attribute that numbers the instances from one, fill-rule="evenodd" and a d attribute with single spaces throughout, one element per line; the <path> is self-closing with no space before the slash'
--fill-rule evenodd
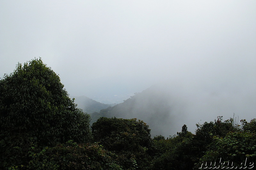
<path id="1" fill-rule="evenodd" d="M 175 135 L 184 124 L 188 131 L 195 133 L 196 124 L 212 121 L 217 116 L 229 119 L 235 113 L 246 120 L 253 118 L 250 108 L 255 108 L 255 100 L 250 95 L 236 94 L 232 89 L 218 92 L 198 88 L 163 83 L 130 95 L 123 103 L 103 104 L 85 96 L 75 97 L 75 103 L 91 115 L 91 125 L 100 117 L 137 118 L 149 125 L 152 137 Z"/>

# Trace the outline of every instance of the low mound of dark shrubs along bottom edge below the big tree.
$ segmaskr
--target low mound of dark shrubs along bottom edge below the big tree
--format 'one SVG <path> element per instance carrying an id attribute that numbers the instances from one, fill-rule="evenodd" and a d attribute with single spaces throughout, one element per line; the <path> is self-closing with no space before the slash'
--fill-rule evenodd
<path id="1" fill-rule="evenodd" d="M 115 154 L 103 149 L 98 143 L 77 144 L 68 141 L 54 147 L 45 147 L 32 156 L 34 159 L 26 167 L 28 169 L 51 170 L 122 170 L 112 157 Z"/>

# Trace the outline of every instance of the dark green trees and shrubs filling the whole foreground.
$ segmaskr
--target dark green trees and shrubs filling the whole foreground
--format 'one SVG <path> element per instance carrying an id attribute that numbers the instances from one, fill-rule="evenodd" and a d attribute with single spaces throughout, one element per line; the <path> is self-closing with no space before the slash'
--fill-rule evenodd
<path id="1" fill-rule="evenodd" d="M 0 169 L 193 170 L 210 168 L 211 161 L 255 163 L 256 119 L 239 125 L 218 117 L 197 124 L 195 134 L 184 124 L 177 135 L 151 138 L 148 124 L 136 118 L 100 117 L 90 128 L 90 116 L 63 88 L 41 59 L 18 64 L 0 80 Z"/>

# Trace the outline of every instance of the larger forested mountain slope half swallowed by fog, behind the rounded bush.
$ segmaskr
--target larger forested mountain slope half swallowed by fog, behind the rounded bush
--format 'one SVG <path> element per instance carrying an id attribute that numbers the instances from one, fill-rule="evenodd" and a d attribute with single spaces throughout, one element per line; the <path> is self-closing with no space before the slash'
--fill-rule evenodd
<path id="1" fill-rule="evenodd" d="M 183 125 L 176 125 L 177 112 L 172 112 L 175 105 L 173 98 L 170 92 L 154 85 L 131 96 L 123 103 L 92 113 L 92 121 L 99 117 L 137 118 L 149 125 L 152 137 L 160 134 L 168 137 L 180 131 Z"/>

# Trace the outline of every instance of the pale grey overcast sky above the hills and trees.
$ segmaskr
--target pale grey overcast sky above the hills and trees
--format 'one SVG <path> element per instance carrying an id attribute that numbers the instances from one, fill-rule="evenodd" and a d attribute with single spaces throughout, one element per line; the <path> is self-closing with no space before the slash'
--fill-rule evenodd
<path id="1" fill-rule="evenodd" d="M 164 81 L 190 96 L 239 100 L 253 114 L 256 1 L 0 0 L 0 57 L 1 77 L 41 57 L 71 96 L 121 96 Z"/>

